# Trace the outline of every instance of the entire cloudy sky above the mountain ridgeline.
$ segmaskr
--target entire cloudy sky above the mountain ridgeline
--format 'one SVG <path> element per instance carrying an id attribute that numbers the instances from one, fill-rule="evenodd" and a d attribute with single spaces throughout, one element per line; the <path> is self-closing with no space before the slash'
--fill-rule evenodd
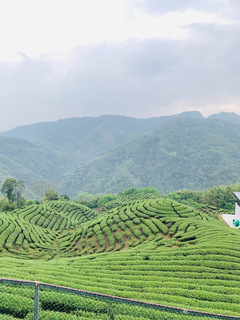
<path id="1" fill-rule="evenodd" d="M 239 0 L 0 0 L 0 131 L 240 114 Z"/>

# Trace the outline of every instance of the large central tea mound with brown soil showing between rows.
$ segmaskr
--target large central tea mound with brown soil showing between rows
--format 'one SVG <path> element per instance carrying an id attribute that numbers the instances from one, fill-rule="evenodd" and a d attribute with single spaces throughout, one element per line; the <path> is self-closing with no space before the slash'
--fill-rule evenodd
<path id="1" fill-rule="evenodd" d="M 208 228 L 214 221 L 214 228 Z M 207 224 L 207 225 L 206 225 Z M 109 210 L 58 239 L 62 253 L 87 254 L 119 251 L 155 241 L 155 247 L 183 246 L 198 241 L 203 229 L 222 233 L 218 220 L 168 199 L 132 201 Z M 206 236 L 208 236 L 206 234 Z M 204 235 L 201 236 L 204 241 Z M 70 251 L 69 251 L 70 250 Z"/>

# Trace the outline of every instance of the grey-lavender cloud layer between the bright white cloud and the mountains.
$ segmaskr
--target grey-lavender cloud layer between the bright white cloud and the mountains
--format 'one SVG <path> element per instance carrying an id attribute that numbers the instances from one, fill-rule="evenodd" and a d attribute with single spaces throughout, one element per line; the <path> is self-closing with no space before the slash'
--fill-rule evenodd
<path id="1" fill-rule="evenodd" d="M 18 62 L 0 63 L 0 131 L 74 116 L 240 113 L 240 26 L 233 10 L 238 2 L 190 2 L 191 8 L 189 1 L 160 0 L 139 1 L 136 7 L 143 10 L 148 3 L 148 10 L 158 13 L 169 3 L 168 11 L 183 10 L 181 20 L 201 5 L 206 15 L 178 24 L 187 37 L 146 35 L 37 58 L 23 51 Z M 211 21 L 207 10 L 214 5 L 221 11 L 223 4 L 229 9 L 226 15 L 212 12 Z"/>

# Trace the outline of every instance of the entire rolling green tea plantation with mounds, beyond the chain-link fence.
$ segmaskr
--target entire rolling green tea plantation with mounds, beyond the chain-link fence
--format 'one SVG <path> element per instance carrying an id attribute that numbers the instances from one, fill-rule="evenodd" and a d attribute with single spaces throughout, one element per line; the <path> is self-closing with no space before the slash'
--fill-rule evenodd
<path id="1" fill-rule="evenodd" d="M 240 316 L 239 230 L 230 229 L 214 214 L 167 198 L 135 197 L 106 207 L 101 213 L 76 203 L 50 201 L 1 212 L 1 277 Z M 27 297 L 29 309 L 22 318 L 32 319 L 29 288 L 0 285 L 0 290 L 5 293 L 0 313 L 8 295 L 18 301 Z M 70 303 L 60 293 L 54 299 Z M 10 307 L 14 309 L 12 305 L 4 309 L 6 319 L 16 317 Z M 51 319 L 50 310 L 44 310 Z M 54 319 L 64 319 L 64 314 L 57 316 L 57 309 L 51 312 L 56 313 Z M 98 319 L 94 307 L 84 312 L 83 319 Z M 99 319 L 105 319 L 104 312 Z M 76 316 L 73 312 L 69 319 Z"/>

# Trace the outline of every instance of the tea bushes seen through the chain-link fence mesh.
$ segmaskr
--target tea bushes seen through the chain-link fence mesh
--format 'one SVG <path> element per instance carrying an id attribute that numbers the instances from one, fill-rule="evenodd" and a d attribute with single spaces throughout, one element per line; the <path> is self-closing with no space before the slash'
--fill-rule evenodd
<path id="1" fill-rule="evenodd" d="M 0 284 L 0 319 L 33 319 L 34 287 Z M 76 295 L 69 292 L 40 288 L 40 319 L 186 319 L 198 320 L 204 317 L 170 310 L 144 306 L 143 304 L 120 302 L 100 296 Z M 222 319 L 221 316 L 214 317 Z"/>

